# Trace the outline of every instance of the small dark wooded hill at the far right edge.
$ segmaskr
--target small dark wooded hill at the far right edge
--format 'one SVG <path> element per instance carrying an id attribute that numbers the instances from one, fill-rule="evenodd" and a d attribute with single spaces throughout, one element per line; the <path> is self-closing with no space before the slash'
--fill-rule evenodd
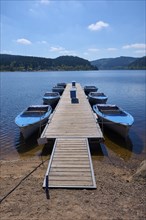
<path id="1" fill-rule="evenodd" d="M 146 70 L 146 56 L 136 59 L 134 62 L 129 64 L 129 69 L 143 69 Z"/>

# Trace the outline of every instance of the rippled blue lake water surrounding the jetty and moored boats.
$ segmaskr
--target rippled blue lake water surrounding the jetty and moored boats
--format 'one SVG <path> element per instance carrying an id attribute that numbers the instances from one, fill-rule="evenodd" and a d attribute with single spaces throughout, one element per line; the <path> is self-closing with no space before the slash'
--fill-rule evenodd
<path id="1" fill-rule="evenodd" d="M 68 72 L 1 72 L 0 158 L 25 158 L 39 155 L 39 133 L 24 140 L 15 125 L 15 117 L 28 105 L 42 104 L 42 96 L 58 82 L 75 80 L 82 86 L 95 85 L 109 98 L 133 115 L 135 122 L 125 141 L 111 131 L 104 131 L 108 150 L 130 160 L 146 156 L 146 72 L 145 71 L 68 71 Z"/>

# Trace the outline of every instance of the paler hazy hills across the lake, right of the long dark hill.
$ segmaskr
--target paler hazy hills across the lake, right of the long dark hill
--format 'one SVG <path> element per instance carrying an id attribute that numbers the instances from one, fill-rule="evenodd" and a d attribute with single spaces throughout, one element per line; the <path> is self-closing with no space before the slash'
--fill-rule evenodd
<path id="1" fill-rule="evenodd" d="M 140 60 L 142 59 L 142 61 Z M 145 59 L 143 58 L 134 58 L 134 57 L 117 57 L 117 58 L 105 58 L 91 61 L 93 66 L 96 66 L 100 70 L 118 70 L 118 69 L 134 69 L 137 66 L 141 69 L 144 66 L 142 62 Z M 134 64 L 136 62 L 136 64 Z M 131 65 L 131 66 L 130 66 Z"/>

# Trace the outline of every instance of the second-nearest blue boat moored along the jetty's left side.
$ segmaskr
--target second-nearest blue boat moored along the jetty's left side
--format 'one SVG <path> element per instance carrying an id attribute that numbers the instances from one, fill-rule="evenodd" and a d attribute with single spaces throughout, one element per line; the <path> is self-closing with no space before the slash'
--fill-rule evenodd
<path id="1" fill-rule="evenodd" d="M 51 105 L 54 107 L 60 99 L 59 92 L 46 92 L 43 96 L 44 104 Z"/>

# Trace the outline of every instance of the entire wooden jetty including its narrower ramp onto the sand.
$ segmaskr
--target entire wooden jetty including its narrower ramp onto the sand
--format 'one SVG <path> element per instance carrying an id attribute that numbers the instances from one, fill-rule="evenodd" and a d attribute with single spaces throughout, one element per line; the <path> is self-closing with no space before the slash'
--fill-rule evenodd
<path id="1" fill-rule="evenodd" d="M 65 91 L 40 139 L 56 139 L 46 176 L 49 188 L 96 188 L 88 138 L 103 141 L 103 134 L 80 84 L 77 103 Z M 43 187 L 46 187 L 46 178 Z"/>

